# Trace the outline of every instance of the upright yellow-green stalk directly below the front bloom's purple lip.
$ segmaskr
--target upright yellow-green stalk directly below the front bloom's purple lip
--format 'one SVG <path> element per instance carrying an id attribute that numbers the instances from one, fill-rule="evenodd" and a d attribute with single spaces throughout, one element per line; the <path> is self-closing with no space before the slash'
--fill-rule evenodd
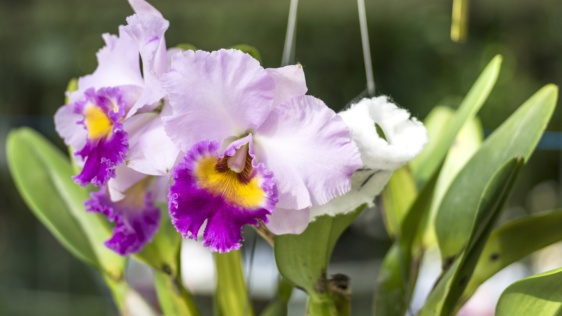
<path id="1" fill-rule="evenodd" d="M 217 270 L 215 299 L 220 309 L 217 314 L 252 316 L 253 308 L 244 283 L 240 250 L 214 254 Z"/>

